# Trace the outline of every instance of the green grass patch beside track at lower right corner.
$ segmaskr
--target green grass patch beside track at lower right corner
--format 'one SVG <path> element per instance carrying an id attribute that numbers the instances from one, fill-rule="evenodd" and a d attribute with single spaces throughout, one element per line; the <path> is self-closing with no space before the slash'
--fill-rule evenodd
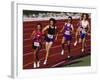
<path id="1" fill-rule="evenodd" d="M 64 65 L 64 67 L 81 67 L 90 65 L 91 65 L 91 56 L 89 55 L 80 59 L 73 60 L 69 64 Z"/>

